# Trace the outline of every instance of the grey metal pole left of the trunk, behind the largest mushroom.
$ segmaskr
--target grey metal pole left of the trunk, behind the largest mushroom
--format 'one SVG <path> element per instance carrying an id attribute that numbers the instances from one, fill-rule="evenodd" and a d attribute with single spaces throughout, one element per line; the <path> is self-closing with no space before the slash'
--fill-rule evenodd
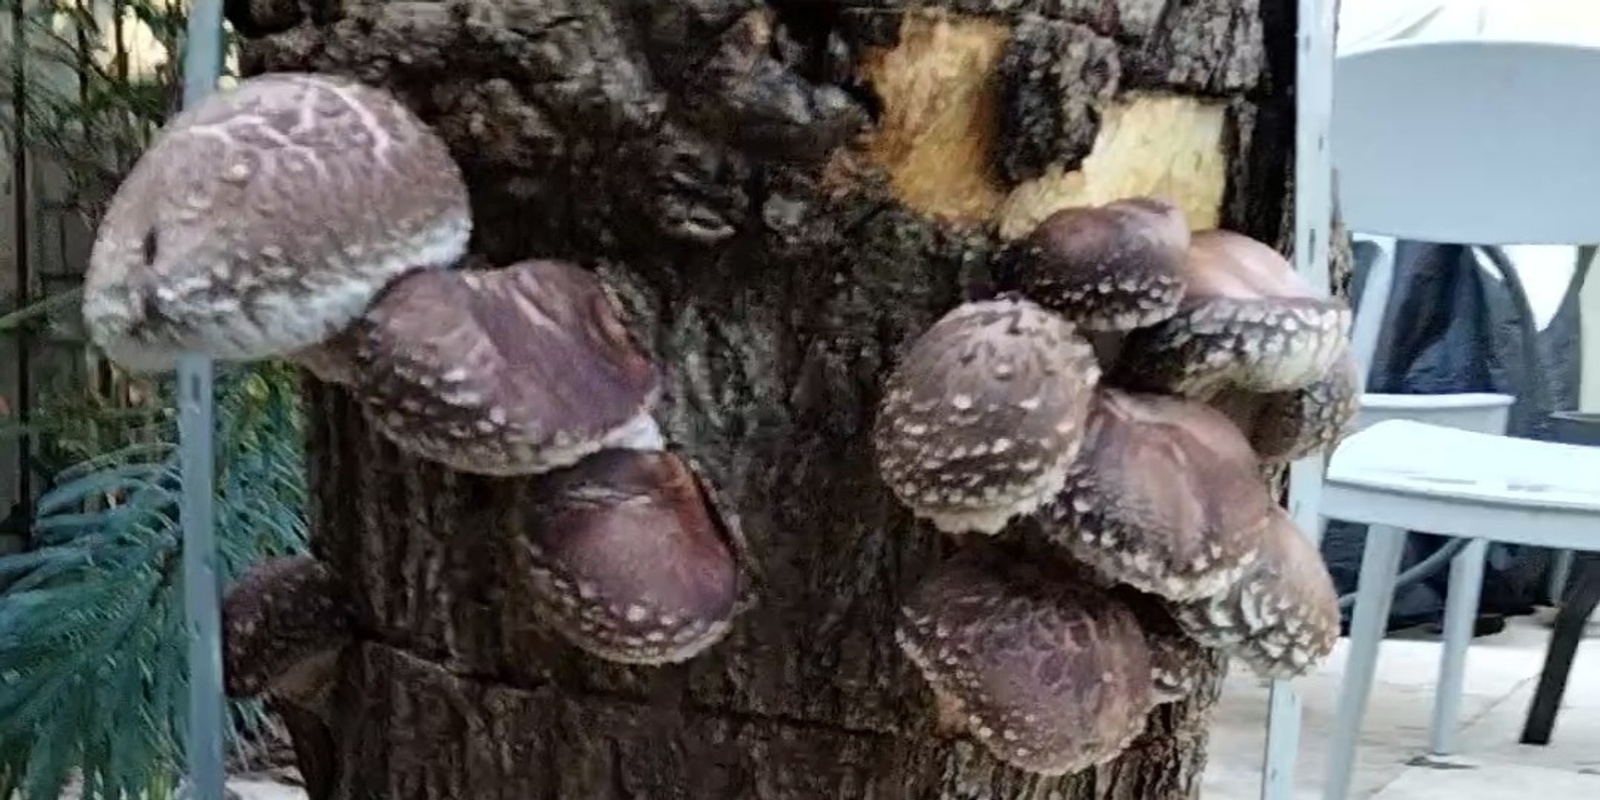
<path id="1" fill-rule="evenodd" d="M 189 5 L 184 107 L 222 74 L 222 0 Z M 216 413 L 213 363 L 178 360 L 178 446 L 182 470 L 184 614 L 189 622 L 189 797 L 222 800 L 222 586 L 216 568 Z"/>

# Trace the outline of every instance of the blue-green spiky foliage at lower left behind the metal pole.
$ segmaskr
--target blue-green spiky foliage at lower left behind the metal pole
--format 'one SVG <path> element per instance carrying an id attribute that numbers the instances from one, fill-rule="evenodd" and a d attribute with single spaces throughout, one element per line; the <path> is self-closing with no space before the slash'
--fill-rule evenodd
<path id="1" fill-rule="evenodd" d="M 226 584 L 304 552 L 306 483 L 293 374 L 227 376 L 216 410 Z M 181 771 L 181 483 L 162 416 L 59 475 L 37 504 L 35 549 L 0 557 L 0 797 L 54 798 L 74 768 L 88 798 L 160 797 Z M 234 706 L 235 728 L 259 715 Z"/>

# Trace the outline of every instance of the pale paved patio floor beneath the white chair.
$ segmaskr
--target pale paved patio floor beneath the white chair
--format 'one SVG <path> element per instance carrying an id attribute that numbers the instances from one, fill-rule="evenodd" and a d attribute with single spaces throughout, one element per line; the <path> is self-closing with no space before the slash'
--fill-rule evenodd
<path id="1" fill-rule="evenodd" d="M 1590 626 L 1592 630 L 1595 626 Z M 1410 766 L 1422 754 L 1434 709 L 1440 645 L 1390 638 L 1362 728 L 1350 800 L 1595 800 L 1600 798 L 1600 638 L 1578 651 L 1555 734 L 1547 747 L 1517 744 L 1544 664 L 1549 629 L 1512 619 L 1467 653 L 1456 752 L 1450 768 Z M 1344 645 L 1320 670 L 1296 682 L 1306 707 L 1294 800 L 1320 800 L 1328 739 L 1344 670 Z M 1243 669 L 1227 678 L 1211 733 L 1203 800 L 1259 797 L 1267 690 Z"/>

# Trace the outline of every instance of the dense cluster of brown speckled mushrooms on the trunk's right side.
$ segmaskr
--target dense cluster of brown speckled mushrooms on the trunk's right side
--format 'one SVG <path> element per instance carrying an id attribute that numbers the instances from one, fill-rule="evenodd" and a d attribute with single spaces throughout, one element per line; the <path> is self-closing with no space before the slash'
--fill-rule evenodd
<path id="1" fill-rule="evenodd" d="M 1338 598 L 1264 475 L 1355 414 L 1349 307 L 1147 197 L 1054 213 L 997 275 L 906 347 L 874 422 L 894 498 L 982 534 L 901 613 L 939 718 L 1059 774 L 1120 754 L 1213 654 L 1312 669 Z"/>

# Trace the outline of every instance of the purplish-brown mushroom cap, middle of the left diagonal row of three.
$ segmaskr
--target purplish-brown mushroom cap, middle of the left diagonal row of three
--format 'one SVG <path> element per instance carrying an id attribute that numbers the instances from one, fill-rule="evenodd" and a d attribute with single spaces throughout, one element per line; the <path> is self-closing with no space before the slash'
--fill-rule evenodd
<path id="1" fill-rule="evenodd" d="M 414 272 L 350 330 L 373 426 L 461 472 L 531 475 L 659 450 L 659 374 L 600 278 L 560 261 Z"/>

